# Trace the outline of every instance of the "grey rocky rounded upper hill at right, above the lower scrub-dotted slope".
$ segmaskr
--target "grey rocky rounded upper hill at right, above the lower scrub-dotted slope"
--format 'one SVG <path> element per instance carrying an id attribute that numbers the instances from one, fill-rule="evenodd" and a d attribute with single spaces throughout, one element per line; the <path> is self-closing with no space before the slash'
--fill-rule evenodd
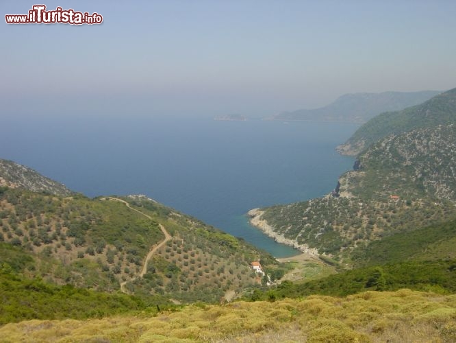
<path id="1" fill-rule="evenodd" d="M 439 125 L 392 134 L 358 158 L 345 191 L 359 198 L 456 200 L 456 125 Z M 342 176 L 342 179 L 344 177 Z"/>

